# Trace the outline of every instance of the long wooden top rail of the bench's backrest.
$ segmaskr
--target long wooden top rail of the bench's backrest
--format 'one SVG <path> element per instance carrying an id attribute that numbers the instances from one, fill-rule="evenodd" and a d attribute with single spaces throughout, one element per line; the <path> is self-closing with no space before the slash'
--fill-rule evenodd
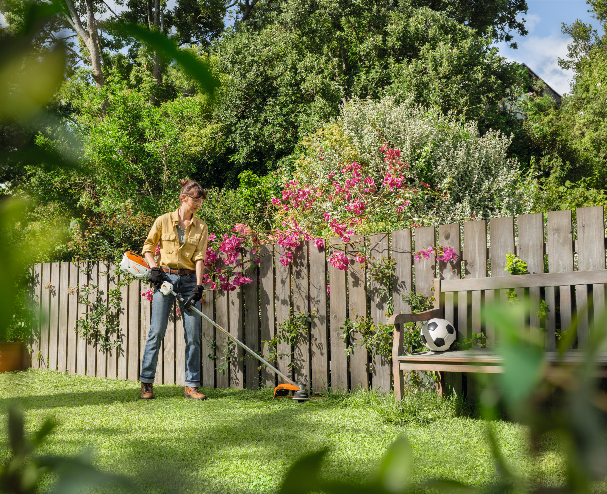
<path id="1" fill-rule="evenodd" d="M 469 290 L 504 290 L 510 288 L 592 285 L 607 283 L 607 269 L 571 271 L 565 273 L 538 273 L 535 275 L 497 276 L 495 278 L 466 278 L 441 281 L 441 292 Z"/>

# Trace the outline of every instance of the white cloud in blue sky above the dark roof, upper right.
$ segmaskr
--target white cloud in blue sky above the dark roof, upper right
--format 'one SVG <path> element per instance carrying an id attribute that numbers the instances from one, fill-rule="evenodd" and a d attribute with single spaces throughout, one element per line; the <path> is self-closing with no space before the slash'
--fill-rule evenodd
<path id="1" fill-rule="evenodd" d="M 569 92 L 569 81 L 574 72 L 558 66 L 558 58 L 566 58 L 567 45 L 571 38 L 565 36 L 526 36 L 518 43 L 518 50 L 509 49 L 506 43 L 498 43 L 500 55 L 509 61 L 525 63 L 539 75 L 546 84 L 559 94 Z"/>

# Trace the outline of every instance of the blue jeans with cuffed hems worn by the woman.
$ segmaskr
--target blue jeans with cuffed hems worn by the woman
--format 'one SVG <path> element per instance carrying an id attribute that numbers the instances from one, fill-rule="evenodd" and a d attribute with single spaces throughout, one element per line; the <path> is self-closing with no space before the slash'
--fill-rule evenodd
<path id="1" fill-rule="evenodd" d="M 189 294 L 196 286 L 196 275 L 173 275 L 166 274 L 173 285 L 173 290 L 181 293 L 181 296 L 188 300 Z M 152 302 L 152 321 L 146 349 L 141 358 L 142 383 L 153 383 L 156 374 L 156 365 L 158 363 L 158 351 L 160 351 L 166 326 L 169 323 L 169 312 L 173 307 L 175 297 L 163 295 L 158 290 L 154 290 L 154 301 Z M 200 386 L 200 315 L 194 310 L 183 310 L 183 304 L 177 301 L 183 317 L 183 336 L 186 340 L 186 386 L 191 388 Z M 194 305 L 200 310 L 200 300 Z"/>

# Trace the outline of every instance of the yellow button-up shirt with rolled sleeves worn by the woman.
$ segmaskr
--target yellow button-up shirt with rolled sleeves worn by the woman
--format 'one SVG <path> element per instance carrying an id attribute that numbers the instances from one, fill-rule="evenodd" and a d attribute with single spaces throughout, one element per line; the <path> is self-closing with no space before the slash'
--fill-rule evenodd
<path id="1" fill-rule="evenodd" d="M 196 269 L 196 261 L 206 258 L 206 237 L 209 233 L 206 223 L 194 216 L 185 230 L 185 242 L 179 245 L 177 225 L 179 210 L 157 218 L 143 244 L 143 254 L 154 253 L 160 242 L 160 263 L 171 269 Z"/>

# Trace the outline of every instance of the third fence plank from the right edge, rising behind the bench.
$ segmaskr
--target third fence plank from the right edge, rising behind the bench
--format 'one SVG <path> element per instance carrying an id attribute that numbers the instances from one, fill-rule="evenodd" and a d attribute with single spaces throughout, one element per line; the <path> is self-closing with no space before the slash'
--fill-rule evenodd
<path id="1" fill-rule="evenodd" d="M 544 272 L 544 215 L 521 214 L 518 216 L 518 257 L 527 262 L 527 271 L 531 274 Z M 529 326 L 537 331 L 541 321 L 537 315 L 540 310 L 540 288 L 529 289 Z"/>

